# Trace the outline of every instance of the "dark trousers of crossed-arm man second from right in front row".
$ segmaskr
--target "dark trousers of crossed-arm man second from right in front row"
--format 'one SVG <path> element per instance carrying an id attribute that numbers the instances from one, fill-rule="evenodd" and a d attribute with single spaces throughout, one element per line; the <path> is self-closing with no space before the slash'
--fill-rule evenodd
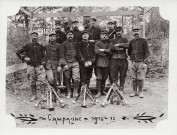
<path id="1" fill-rule="evenodd" d="M 111 59 L 110 73 L 113 83 L 117 84 L 118 74 L 120 74 L 120 87 L 124 88 L 125 78 L 128 69 L 127 59 Z"/>

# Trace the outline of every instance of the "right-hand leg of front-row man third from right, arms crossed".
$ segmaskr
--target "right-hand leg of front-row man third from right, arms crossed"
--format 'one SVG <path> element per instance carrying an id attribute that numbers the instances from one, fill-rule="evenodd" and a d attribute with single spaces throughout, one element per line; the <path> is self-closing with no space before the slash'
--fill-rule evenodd
<path id="1" fill-rule="evenodd" d="M 105 91 L 105 85 L 106 85 L 106 79 L 108 78 L 109 75 L 109 68 L 108 67 L 104 67 L 103 68 L 103 77 L 102 77 L 102 82 L 101 82 L 101 94 L 102 95 L 106 95 L 106 91 Z"/>

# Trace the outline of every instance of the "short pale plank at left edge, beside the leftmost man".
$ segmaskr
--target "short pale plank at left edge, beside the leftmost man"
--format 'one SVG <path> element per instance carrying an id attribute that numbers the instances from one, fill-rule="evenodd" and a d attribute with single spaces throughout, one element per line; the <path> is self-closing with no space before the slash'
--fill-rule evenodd
<path id="1" fill-rule="evenodd" d="M 12 66 L 6 67 L 6 74 L 14 73 L 25 68 L 27 68 L 26 63 L 14 64 Z"/>

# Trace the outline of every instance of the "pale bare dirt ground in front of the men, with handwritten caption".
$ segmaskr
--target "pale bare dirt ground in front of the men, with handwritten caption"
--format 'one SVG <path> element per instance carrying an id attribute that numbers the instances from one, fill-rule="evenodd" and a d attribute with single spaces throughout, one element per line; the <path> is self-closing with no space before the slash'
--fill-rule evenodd
<path id="1" fill-rule="evenodd" d="M 95 84 L 92 84 L 95 85 Z M 74 98 L 61 97 L 68 105 L 60 108 L 56 105 L 54 111 L 35 108 L 35 102 L 29 102 L 29 86 L 23 85 L 18 92 L 7 89 L 6 113 L 16 118 L 19 128 L 155 128 L 157 123 L 168 117 L 168 78 L 147 79 L 144 89 L 144 98 L 130 98 L 132 92 L 130 84 L 126 84 L 124 97 L 128 106 L 108 104 L 100 107 L 104 96 L 99 103 L 82 108 L 81 103 L 74 104 Z M 46 103 L 44 103 L 45 105 Z M 139 118 L 155 118 L 137 120 Z"/>

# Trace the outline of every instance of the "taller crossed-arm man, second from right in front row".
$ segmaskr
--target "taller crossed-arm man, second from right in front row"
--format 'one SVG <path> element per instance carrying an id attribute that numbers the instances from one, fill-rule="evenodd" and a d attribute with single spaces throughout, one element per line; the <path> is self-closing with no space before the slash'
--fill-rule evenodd
<path id="1" fill-rule="evenodd" d="M 118 86 L 118 73 L 120 74 L 120 91 L 123 93 L 128 61 L 126 49 L 128 49 L 128 40 L 122 37 L 122 27 L 117 27 L 116 38 L 111 40 L 110 47 L 112 51 L 110 73 L 113 83 Z"/>

